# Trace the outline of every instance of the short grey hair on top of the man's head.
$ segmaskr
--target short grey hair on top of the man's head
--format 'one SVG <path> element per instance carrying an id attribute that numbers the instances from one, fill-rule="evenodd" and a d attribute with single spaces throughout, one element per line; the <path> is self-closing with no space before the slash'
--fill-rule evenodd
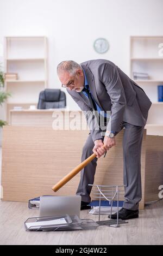
<path id="1" fill-rule="evenodd" d="M 70 75 L 74 75 L 77 69 L 82 69 L 82 66 L 75 61 L 62 61 L 57 66 L 57 74 L 62 72 L 68 72 Z"/>

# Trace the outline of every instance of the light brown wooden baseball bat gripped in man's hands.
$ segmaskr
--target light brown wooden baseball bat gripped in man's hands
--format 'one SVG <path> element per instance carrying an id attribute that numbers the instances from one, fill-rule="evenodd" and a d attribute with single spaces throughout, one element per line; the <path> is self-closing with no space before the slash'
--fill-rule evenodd
<path id="1" fill-rule="evenodd" d="M 55 184 L 52 189 L 54 192 L 57 192 L 62 186 L 64 186 L 68 181 L 71 180 L 75 175 L 78 174 L 79 171 L 81 171 L 87 164 L 89 164 L 94 158 L 96 157 L 96 154 L 91 154 L 90 157 L 85 159 L 82 163 L 80 163 L 76 168 L 74 168 L 72 171 L 69 172 L 65 177 L 63 177 L 57 184 Z"/>

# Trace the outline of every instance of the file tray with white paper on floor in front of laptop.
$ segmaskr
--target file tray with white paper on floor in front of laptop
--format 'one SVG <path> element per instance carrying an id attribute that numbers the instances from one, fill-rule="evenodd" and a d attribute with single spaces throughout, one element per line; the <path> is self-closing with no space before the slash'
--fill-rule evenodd
<path id="1" fill-rule="evenodd" d="M 69 215 L 59 215 L 59 216 L 47 216 L 47 217 L 33 217 L 28 218 L 24 225 L 26 230 L 47 230 L 56 229 L 58 227 L 67 226 L 72 223 L 72 219 Z"/>

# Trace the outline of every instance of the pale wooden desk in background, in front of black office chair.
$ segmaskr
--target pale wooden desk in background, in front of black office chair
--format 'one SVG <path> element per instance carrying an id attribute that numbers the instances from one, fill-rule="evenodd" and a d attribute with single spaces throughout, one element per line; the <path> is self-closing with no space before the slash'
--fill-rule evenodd
<path id="1" fill-rule="evenodd" d="M 75 124 L 76 122 L 76 124 Z M 77 129 L 87 129 L 86 119 L 82 111 L 66 109 L 22 109 L 10 110 L 10 124 L 12 126 L 55 127 L 55 129 L 76 125 Z M 60 125 L 60 128 L 59 128 Z"/>

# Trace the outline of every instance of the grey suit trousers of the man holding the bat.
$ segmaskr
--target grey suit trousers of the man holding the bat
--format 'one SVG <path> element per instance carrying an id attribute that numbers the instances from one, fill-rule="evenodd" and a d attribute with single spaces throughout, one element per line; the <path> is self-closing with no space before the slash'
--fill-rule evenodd
<path id="1" fill-rule="evenodd" d="M 123 207 L 129 210 L 139 209 L 141 192 L 141 146 L 143 138 L 143 126 L 134 126 L 126 122 L 122 123 L 123 135 L 123 181 L 125 187 Z M 117 133 L 115 134 L 117 135 Z M 82 162 L 92 154 L 94 142 L 89 134 L 82 152 Z M 93 159 L 81 171 L 77 195 L 81 195 L 82 201 L 90 203 L 91 186 L 93 184 L 97 166 L 97 158 Z"/>

